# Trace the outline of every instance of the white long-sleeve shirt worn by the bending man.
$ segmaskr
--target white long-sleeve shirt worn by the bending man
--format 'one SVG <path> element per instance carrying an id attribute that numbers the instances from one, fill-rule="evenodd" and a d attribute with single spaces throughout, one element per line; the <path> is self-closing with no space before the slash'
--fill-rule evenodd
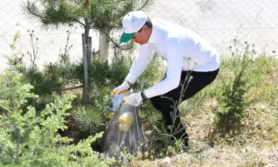
<path id="1" fill-rule="evenodd" d="M 140 45 L 126 80 L 133 84 L 145 71 L 153 51 L 167 61 L 167 77 L 147 88 L 150 98 L 163 95 L 179 86 L 181 71 L 208 72 L 217 70 L 220 62 L 216 49 L 197 33 L 164 19 L 152 19 L 152 35 L 149 41 Z"/>

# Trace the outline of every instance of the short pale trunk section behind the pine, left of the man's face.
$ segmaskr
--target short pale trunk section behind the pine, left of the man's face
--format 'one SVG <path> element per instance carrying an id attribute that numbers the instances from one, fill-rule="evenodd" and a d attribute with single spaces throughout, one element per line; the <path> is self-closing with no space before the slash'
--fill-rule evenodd
<path id="1" fill-rule="evenodd" d="M 104 29 L 107 35 L 110 35 L 110 29 Z M 99 60 L 108 61 L 109 55 L 109 38 L 104 33 L 99 32 Z"/>

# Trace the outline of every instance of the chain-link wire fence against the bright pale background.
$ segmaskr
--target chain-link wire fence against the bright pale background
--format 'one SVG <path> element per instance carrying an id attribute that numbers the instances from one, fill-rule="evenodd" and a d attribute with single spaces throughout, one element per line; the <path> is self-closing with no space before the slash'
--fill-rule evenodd
<path id="1" fill-rule="evenodd" d="M 81 27 L 43 30 L 38 23 L 26 19 L 20 3 L 22 0 L 1 0 L 0 55 L 10 53 L 8 44 L 19 31 L 17 49 L 28 59 L 27 52 L 32 50 L 30 31 L 33 30 L 33 37 L 38 38 L 38 65 L 42 66 L 57 60 L 67 40 L 66 31 L 70 30 L 71 57 L 73 60 L 81 58 Z M 220 54 L 233 45 L 234 39 L 254 44 L 258 53 L 275 54 L 278 47 L 277 0 L 156 0 L 147 13 L 150 17 L 162 17 L 193 29 Z M 98 49 L 99 33 L 91 31 L 90 35 L 92 47 Z M 3 67 L 6 61 L 0 56 L 0 71 Z"/>

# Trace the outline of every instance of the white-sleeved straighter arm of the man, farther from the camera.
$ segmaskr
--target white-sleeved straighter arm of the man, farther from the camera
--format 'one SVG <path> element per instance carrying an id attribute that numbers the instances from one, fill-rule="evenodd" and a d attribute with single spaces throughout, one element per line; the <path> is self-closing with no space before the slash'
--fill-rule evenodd
<path id="1" fill-rule="evenodd" d="M 152 58 L 152 46 L 149 44 L 140 45 L 139 54 L 132 63 L 129 74 L 126 76 L 125 80 L 131 84 L 134 84 L 136 79 L 145 71 L 149 61 Z"/>

